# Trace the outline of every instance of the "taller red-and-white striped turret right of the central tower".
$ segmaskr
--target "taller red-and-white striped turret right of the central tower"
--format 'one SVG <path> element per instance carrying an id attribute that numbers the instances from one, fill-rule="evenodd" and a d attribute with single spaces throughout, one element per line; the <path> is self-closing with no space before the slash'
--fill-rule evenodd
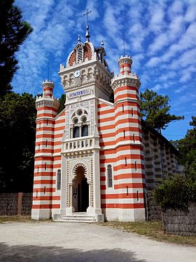
<path id="1" fill-rule="evenodd" d="M 145 220 L 145 169 L 139 107 L 140 81 L 132 74 L 130 56 L 120 57 L 120 74 L 111 81 L 114 91 L 116 126 L 116 188 L 124 218 L 130 214 L 134 221 Z M 128 211 L 130 209 L 130 211 Z M 126 220 L 126 219 L 125 219 Z"/>

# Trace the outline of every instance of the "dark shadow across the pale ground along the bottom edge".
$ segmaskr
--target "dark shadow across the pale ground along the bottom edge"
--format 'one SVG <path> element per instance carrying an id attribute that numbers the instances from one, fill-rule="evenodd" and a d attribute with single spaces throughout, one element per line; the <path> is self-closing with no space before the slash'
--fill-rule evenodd
<path id="1" fill-rule="evenodd" d="M 62 247 L 38 247 L 35 245 L 8 246 L 0 244 L 0 261 L 3 262 L 78 262 L 78 261 L 99 261 L 99 262 L 146 262 L 135 258 L 134 252 L 123 249 L 96 249 L 83 251 L 81 249 L 64 249 Z"/>

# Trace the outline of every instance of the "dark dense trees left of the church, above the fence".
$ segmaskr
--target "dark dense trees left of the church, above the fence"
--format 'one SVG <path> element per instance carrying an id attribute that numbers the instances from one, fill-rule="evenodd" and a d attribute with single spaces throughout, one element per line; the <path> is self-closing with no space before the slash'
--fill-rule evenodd
<path id="1" fill-rule="evenodd" d="M 0 98 L 0 191 L 31 192 L 36 133 L 35 98 L 6 93 Z"/>

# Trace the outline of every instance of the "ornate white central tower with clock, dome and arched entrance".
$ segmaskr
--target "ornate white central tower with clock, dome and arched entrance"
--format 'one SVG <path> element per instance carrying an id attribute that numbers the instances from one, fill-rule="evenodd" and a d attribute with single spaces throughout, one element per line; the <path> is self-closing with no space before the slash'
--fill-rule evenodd
<path id="1" fill-rule="evenodd" d="M 94 221 L 103 221 L 97 101 L 99 98 L 109 100 L 113 75 L 104 58 L 104 42 L 98 48 L 93 46 L 88 25 L 85 37 L 85 42 L 78 37 L 66 65 L 60 65 L 59 70 L 66 93 L 60 213 L 72 215 L 80 211 L 83 207 L 80 202 L 87 199 L 87 215 L 94 216 Z M 85 192 L 82 183 L 87 183 Z M 87 197 L 80 197 L 86 193 Z"/>

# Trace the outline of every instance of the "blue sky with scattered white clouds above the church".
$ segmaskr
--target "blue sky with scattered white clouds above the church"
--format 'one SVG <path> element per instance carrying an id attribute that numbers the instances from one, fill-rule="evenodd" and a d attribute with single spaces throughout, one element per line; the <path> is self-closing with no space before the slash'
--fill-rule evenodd
<path id="1" fill-rule="evenodd" d="M 85 41 L 85 9 L 89 15 L 90 41 L 104 39 L 110 70 L 118 74 L 118 57 L 125 50 L 141 79 L 141 91 L 153 89 L 170 98 L 171 112 L 185 119 L 162 131 L 169 140 L 183 138 L 196 115 L 196 0 L 15 0 L 23 18 L 34 27 L 18 52 L 20 69 L 13 91 L 41 93 L 41 83 L 55 82 L 55 97 L 64 92 L 57 75 L 59 64 L 77 44 Z"/>

